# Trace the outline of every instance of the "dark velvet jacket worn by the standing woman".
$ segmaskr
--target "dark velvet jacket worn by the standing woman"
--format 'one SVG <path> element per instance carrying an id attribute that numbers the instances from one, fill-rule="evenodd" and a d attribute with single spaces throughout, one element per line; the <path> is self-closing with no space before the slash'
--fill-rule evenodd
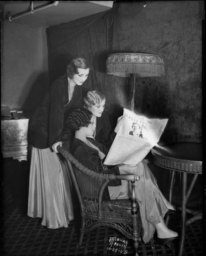
<path id="1" fill-rule="evenodd" d="M 63 141 L 62 132 L 70 111 L 83 108 L 82 86 L 76 85 L 69 101 L 68 78 L 61 76 L 51 86 L 42 105 L 29 122 L 30 144 L 35 148 L 48 148 Z"/>

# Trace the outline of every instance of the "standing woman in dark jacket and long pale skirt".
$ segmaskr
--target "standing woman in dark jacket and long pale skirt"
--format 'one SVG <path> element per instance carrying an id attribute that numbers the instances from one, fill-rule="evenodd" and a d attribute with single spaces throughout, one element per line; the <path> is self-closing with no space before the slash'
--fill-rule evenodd
<path id="1" fill-rule="evenodd" d="M 62 146 L 65 117 L 82 107 L 82 84 L 89 75 L 83 58 L 70 61 L 66 74 L 55 80 L 31 119 L 31 166 L 28 215 L 42 218 L 50 229 L 68 227 L 74 219 L 66 161 L 57 153 Z"/>

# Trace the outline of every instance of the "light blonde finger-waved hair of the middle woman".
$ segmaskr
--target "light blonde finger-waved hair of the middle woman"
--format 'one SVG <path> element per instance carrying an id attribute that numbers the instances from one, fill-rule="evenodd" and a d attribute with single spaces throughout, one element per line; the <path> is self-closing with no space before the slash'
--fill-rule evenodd
<path id="1" fill-rule="evenodd" d="M 97 90 L 89 91 L 83 98 L 84 108 L 89 109 L 94 105 L 100 104 L 105 96 Z"/>

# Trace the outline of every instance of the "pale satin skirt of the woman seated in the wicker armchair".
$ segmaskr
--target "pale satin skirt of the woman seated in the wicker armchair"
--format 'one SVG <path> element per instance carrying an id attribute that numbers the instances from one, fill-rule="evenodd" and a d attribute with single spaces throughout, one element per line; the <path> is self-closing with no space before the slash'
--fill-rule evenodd
<path id="1" fill-rule="evenodd" d="M 135 192 L 140 207 L 142 239 L 144 243 L 147 243 L 154 235 L 154 225 L 160 223 L 160 216 L 164 218 L 168 208 L 163 202 L 154 175 L 144 161 L 138 164 L 137 171 L 134 174 L 140 175 L 140 180 L 135 181 Z M 130 181 L 122 180 L 121 186 L 109 186 L 108 189 L 111 199 L 131 197 Z"/>

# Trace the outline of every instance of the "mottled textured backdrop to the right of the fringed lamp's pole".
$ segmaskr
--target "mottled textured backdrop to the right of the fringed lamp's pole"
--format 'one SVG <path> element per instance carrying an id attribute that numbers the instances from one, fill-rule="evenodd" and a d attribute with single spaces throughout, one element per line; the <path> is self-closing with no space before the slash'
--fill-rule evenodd
<path id="1" fill-rule="evenodd" d="M 136 109 L 168 117 L 165 138 L 201 140 L 203 1 L 124 3 L 118 12 L 120 49 L 160 55 L 165 76 L 140 79 Z"/>

